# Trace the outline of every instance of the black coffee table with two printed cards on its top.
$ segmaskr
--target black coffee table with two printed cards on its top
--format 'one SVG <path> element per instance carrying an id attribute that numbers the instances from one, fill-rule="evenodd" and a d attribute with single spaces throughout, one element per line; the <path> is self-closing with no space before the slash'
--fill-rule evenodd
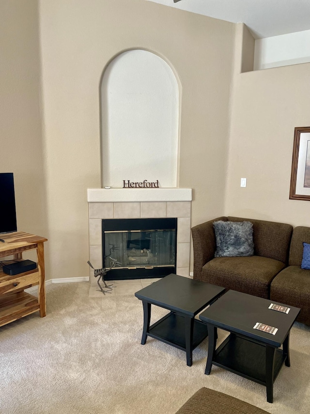
<path id="1" fill-rule="evenodd" d="M 268 309 L 271 303 L 288 306 L 288 314 Z M 282 365 L 290 366 L 289 336 L 300 309 L 272 300 L 229 290 L 199 315 L 209 332 L 205 374 L 212 364 L 266 386 L 267 401 L 273 402 L 273 383 Z M 275 335 L 253 329 L 263 323 Z M 216 349 L 217 328 L 231 332 Z M 283 349 L 279 349 L 283 345 Z"/>

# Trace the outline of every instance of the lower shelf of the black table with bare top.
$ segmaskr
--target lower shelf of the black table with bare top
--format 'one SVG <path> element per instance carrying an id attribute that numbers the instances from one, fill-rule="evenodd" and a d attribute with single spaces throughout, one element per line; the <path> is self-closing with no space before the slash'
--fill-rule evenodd
<path id="1" fill-rule="evenodd" d="M 150 326 L 148 336 L 172 345 L 175 348 L 186 350 L 185 343 L 185 318 L 184 316 L 169 313 Z M 206 337 L 208 330 L 206 324 L 194 319 L 193 349 Z"/>

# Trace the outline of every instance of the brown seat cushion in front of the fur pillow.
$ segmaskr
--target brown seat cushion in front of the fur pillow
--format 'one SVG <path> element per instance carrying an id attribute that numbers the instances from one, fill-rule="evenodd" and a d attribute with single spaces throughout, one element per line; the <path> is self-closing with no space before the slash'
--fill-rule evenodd
<path id="1" fill-rule="evenodd" d="M 284 263 L 267 257 L 216 257 L 202 267 L 202 280 L 268 298 L 272 279 L 284 267 Z"/>

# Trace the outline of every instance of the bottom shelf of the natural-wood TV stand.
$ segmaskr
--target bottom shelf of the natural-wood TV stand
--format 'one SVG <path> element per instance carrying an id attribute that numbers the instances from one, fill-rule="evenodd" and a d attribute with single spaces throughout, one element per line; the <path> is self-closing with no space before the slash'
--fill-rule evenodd
<path id="1" fill-rule="evenodd" d="M 38 299 L 27 292 L 0 296 L 0 326 L 40 310 Z"/>

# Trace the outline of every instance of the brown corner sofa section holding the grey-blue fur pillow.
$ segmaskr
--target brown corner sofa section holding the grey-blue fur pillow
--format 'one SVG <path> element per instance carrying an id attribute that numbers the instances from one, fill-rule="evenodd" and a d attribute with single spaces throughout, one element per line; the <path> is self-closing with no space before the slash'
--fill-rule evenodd
<path id="1" fill-rule="evenodd" d="M 214 257 L 216 238 L 213 222 L 253 223 L 254 256 Z M 270 284 L 288 264 L 293 227 L 285 223 L 240 217 L 217 217 L 191 229 L 194 279 L 261 298 L 270 297 Z M 281 302 L 281 300 L 280 300 Z M 284 302 L 285 303 L 285 302 Z"/>

